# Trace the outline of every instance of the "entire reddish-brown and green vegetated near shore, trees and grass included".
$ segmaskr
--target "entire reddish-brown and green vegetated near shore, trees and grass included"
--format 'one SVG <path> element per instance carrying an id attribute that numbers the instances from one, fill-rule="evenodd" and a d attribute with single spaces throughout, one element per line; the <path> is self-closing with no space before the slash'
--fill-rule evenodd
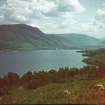
<path id="1" fill-rule="evenodd" d="M 16 73 L 0 78 L 0 104 L 105 104 L 105 49 L 84 51 L 81 69 Z"/>

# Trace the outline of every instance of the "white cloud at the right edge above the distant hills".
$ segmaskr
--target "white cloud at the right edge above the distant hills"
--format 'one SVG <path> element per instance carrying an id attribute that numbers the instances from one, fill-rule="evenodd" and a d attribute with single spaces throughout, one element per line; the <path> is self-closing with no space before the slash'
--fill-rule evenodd
<path id="1" fill-rule="evenodd" d="M 105 4 L 96 10 L 96 16 L 89 23 L 81 24 L 83 32 L 98 38 L 105 37 Z"/>

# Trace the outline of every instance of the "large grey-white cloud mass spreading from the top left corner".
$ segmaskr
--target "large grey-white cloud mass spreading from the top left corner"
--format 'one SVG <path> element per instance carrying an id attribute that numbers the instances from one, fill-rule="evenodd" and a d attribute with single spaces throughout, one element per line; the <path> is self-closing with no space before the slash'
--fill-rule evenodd
<path id="1" fill-rule="evenodd" d="M 79 0 L 4 0 L 0 6 L 0 23 L 32 23 L 47 17 L 66 15 L 66 12 L 83 12 Z M 47 18 L 52 19 L 53 18 Z M 69 17 L 68 17 L 69 18 Z"/>

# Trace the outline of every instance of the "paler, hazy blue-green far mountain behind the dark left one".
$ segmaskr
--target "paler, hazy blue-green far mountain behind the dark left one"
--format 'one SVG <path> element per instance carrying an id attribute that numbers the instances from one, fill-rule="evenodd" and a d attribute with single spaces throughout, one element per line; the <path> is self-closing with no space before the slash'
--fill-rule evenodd
<path id="1" fill-rule="evenodd" d="M 62 42 L 72 48 L 95 48 L 98 46 L 100 40 L 84 34 L 58 34 Z"/>

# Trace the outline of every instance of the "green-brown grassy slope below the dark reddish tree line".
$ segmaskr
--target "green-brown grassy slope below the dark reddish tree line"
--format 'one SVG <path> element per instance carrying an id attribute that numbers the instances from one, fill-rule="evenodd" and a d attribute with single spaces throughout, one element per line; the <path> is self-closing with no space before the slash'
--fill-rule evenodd
<path id="1" fill-rule="evenodd" d="M 5 104 L 98 104 L 101 90 L 95 89 L 96 84 L 105 84 L 105 79 L 65 79 L 63 83 L 52 83 L 37 89 L 19 87 L 9 91 L 0 103 Z M 64 93 L 71 92 L 70 95 Z"/>

